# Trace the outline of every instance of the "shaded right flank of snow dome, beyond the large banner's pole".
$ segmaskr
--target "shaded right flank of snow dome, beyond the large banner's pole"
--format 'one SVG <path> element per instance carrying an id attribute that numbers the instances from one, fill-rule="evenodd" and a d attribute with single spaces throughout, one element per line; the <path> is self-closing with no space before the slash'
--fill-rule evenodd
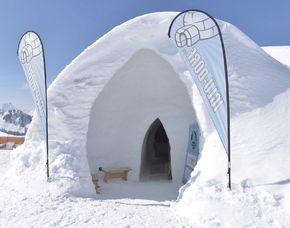
<path id="1" fill-rule="evenodd" d="M 229 23 L 221 25 L 228 59 L 231 114 L 252 111 L 290 86 L 289 68 Z"/>

